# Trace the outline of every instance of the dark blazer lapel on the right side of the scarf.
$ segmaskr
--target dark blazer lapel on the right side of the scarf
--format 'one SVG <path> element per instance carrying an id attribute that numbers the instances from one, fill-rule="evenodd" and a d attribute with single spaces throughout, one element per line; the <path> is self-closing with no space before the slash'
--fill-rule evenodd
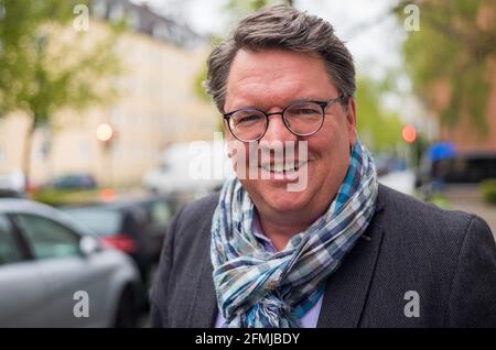
<path id="1" fill-rule="evenodd" d="M 376 211 L 362 239 L 327 280 L 317 328 L 355 328 L 367 298 L 384 233 L 384 198 L 379 186 Z"/>

